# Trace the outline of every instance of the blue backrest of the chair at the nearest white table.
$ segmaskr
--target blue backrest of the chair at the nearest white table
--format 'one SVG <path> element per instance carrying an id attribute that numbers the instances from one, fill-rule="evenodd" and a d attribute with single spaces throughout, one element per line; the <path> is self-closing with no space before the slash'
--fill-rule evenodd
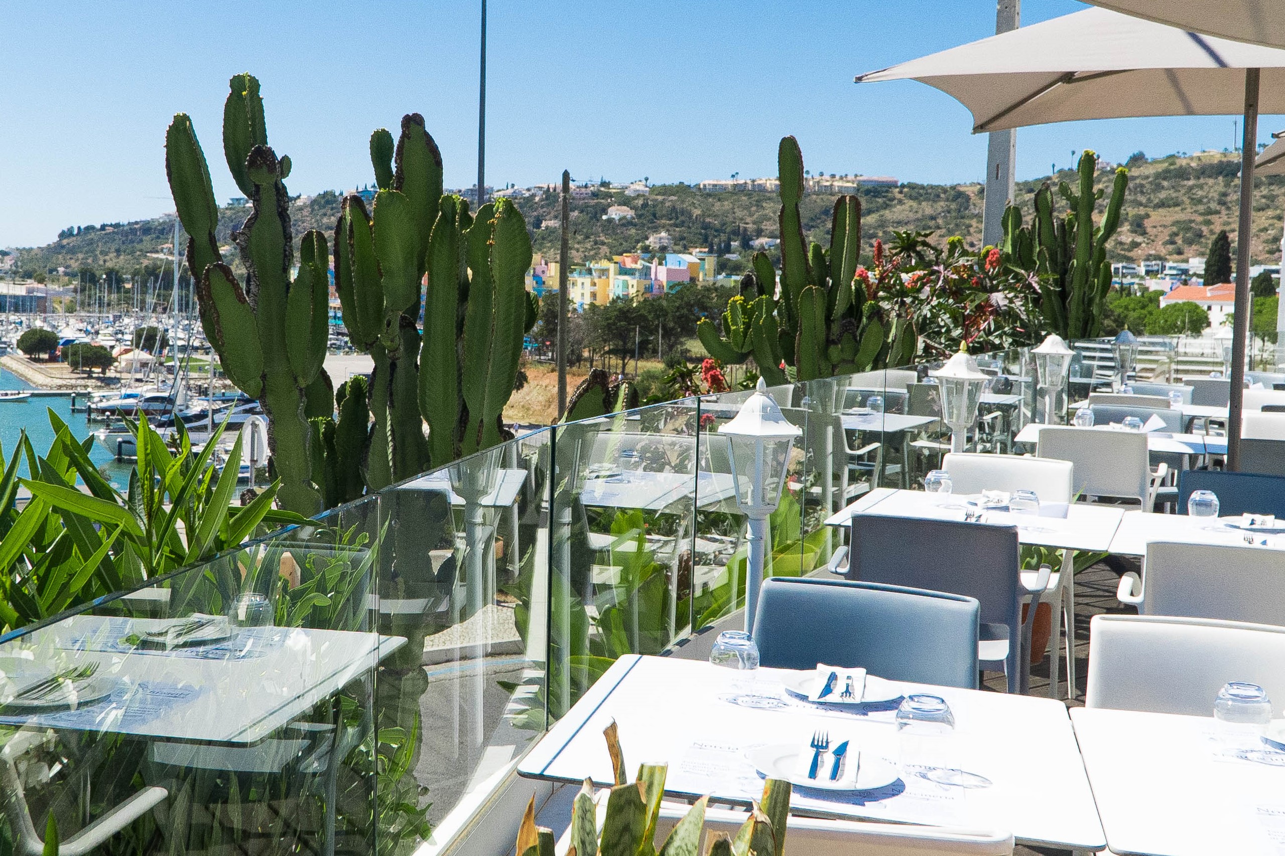
<path id="1" fill-rule="evenodd" d="M 889 680 L 977 687 L 979 604 L 898 585 L 772 578 L 758 593 L 754 642 L 775 669 L 860 666 Z"/>

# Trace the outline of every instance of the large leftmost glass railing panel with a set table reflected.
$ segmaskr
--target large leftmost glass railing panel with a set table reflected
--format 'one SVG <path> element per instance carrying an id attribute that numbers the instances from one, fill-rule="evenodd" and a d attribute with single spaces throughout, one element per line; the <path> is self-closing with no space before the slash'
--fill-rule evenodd
<path id="1" fill-rule="evenodd" d="M 378 498 L 0 646 L 13 850 L 371 852 Z M 342 522 L 341 522 L 342 521 Z M 95 835 L 102 834 L 102 841 Z"/>

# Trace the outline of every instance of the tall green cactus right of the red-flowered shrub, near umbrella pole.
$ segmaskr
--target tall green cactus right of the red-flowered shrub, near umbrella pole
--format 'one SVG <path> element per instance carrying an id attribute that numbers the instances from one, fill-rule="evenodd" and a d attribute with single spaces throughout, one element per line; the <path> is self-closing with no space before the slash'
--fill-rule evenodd
<path id="1" fill-rule="evenodd" d="M 1094 226 L 1094 209 L 1104 191 L 1094 187 L 1097 155 L 1079 157 L 1078 190 L 1065 181 L 1058 191 L 1067 200 L 1065 217 L 1054 216 L 1052 189 L 1045 182 L 1034 195 L 1034 219 L 1022 225 L 1022 212 L 1010 205 L 1004 213 L 1002 252 L 1010 264 L 1040 278 L 1041 305 L 1049 329 L 1063 339 L 1092 339 L 1101 334 L 1112 266 L 1106 244 L 1119 227 L 1128 169 L 1117 167 L 1103 222 Z M 1087 227 L 1081 228 L 1082 225 Z"/>

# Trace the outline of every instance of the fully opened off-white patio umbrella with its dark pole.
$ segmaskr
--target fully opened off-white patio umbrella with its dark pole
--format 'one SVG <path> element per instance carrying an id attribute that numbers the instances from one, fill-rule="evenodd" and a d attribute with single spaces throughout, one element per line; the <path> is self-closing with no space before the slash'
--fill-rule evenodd
<path id="1" fill-rule="evenodd" d="M 1285 0 L 1281 0 L 1285 3 Z M 1086 9 L 912 59 L 856 81 L 916 80 L 973 113 L 973 131 L 1144 116 L 1244 116 L 1239 235 L 1250 234 L 1259 108 L 1285 113 L 1285 50 Z M 1259 81 L 1264 98 L 1259 98 Z M 1239 457 L 1249 241 L 1237 241 L 1227 457 Z"/>

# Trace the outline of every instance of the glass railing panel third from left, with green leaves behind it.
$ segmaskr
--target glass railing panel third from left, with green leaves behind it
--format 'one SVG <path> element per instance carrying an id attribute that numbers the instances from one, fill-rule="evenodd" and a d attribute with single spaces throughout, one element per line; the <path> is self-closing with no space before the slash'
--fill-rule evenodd
<path id="1" fill-rule="evenodd" d="M 660 653 L 690 628 L 700 418 L 684 399 L 558 426 L 551 716 L 621 655 Z M 731 492 L 726 474 L 705 481 L 702 502 Z"/>

